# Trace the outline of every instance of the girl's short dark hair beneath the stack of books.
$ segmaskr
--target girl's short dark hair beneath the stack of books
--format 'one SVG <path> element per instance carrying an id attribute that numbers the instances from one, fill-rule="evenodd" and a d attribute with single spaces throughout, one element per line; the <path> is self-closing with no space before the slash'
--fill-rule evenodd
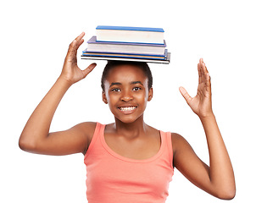
<path id="1" fill-rule="evenodd" d="M 105 91 L 104 82 L 105 82 L 106 78 L 108 77 L 109 70 L 113 69 L 116 66 L 120 66 L 120 65 L 132 65 L 132 66 L 136 66 L 136 67 L 142 69 L 142 71 L 144 72 L 145 76 L 147 76 L 147 79 L 148 79 L 148 83 L 147 83 L 148 90 L 152 87 L 153 77 L 152 77 L 151 70 L 149 69 L 146 62 L 108 61 L 108 63 L 105 66 L 105 69 L 103 70 L 103 76 L 102 76 L 102 80 L 101 80 L 101 86 L 102 86 L 103 91 Z"/>

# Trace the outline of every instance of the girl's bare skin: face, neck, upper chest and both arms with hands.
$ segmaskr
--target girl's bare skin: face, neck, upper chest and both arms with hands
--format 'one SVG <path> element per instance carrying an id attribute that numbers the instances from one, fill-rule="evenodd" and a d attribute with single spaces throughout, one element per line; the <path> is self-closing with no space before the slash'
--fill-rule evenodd
<path id="1" fill-rule="evenodd" d="M 31 114 L 19 138 L 24 151 L 47 155 L 86 153 L 96 123 L 85 122 L 73 128 L 49 133 L 54 112 L 71 85 L 86 78 L 96 63 L 81 70 L 77 66 L 76 52 L 83 43 L 82 33 L 72 41 L 64 60 L 62 73 L 42 102 Z M 181 95 L 200 118 L 209 147 L 209 166 L 202 162 L 191 145 L 180 134 L 172 134 L 173 163 L 193 184 L 220 199 L 231 200 L 236 194 L 234 173 L 224 141 L 214 117 L 211 102 L 211 83 L 203 59 L 198 63 L 198 94 L 189 96 L 183 87 Z M 103 102 L 109 104 L 115 123 L 106 125 L 104 136 L 109 147 L 121 156 L 146 159 L 160 148 L 159 130 L 144 123 L 143 113 L 153 97 L 147 88 L 147 77 L 142 70 L 122 65 L 111 70 L 104 83 Z M 121 111 L 124 107 L 136 107 Z"/>

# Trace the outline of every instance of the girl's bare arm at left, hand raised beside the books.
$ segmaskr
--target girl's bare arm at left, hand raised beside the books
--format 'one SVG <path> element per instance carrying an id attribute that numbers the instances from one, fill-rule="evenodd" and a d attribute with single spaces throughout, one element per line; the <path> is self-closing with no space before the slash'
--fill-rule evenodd
<path id="1" fill-rule="evenodd" d="M 86 150 L 88 134 L 93 133 L 95 123 L 81 123 L 65 131 L 49 133 L 54 112 L 65 92 L 75 82 L 84 79 L 96 66 L 93 63 L 85 70 L 77 66 L 76 52 L 83 43 L 83 36 L 84 33 L 70 44 L 62 73 L 25 124 L 19 137 L 19 147 L 22 150 L 49 155 L 66 155 Z"/>

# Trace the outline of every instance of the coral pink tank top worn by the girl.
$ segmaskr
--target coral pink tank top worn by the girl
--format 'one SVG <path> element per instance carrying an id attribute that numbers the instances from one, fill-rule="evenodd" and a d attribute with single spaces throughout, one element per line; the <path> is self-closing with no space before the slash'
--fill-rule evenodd
<path id="1" fill-rule="evenodd" d="M 104 129 L 97 123 L 84 159 L 88 203 L 164 203 L 174 173 L 171 134 L 160 131 L 159 152 L 135 160 L 112 151 Z"/>

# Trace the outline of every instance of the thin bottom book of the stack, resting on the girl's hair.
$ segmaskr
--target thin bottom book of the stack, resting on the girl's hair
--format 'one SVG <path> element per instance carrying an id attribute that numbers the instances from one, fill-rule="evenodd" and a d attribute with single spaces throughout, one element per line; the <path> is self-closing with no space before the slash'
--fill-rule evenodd
<path id="1" fill-rule="evenodd" d="M 119 58 L 119 57 L 98 57 L 98 56 L 81 56 L 81 59 L 88 60 L 117 60 L 117 61 L 137 61 L 137 62 L 146 62 L 146 63 L 170 63 L 170 52 L 168 52 L 165 60 L 159 59 L 149 59 L 149 58 Z"/>

